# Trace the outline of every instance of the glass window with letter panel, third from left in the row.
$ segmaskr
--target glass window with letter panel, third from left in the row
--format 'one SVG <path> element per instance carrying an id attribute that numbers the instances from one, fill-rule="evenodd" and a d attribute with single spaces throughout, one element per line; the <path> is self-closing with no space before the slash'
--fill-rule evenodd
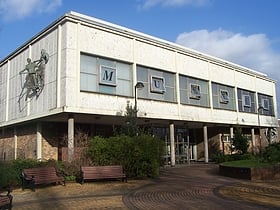
<path id="1" fill-rule="evenodd" d="M 210 107 L 208 81 L 179 76 L 182 104 Z"/>

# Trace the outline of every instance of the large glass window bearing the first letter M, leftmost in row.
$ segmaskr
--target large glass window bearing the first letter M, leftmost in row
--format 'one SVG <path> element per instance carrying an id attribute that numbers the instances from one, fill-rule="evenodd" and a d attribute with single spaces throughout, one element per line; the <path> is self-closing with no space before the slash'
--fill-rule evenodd
<path id="1" fill-rule="evenodd" d="M 132 65 L 81 54 L 80 90 L 132 96 Z"/>

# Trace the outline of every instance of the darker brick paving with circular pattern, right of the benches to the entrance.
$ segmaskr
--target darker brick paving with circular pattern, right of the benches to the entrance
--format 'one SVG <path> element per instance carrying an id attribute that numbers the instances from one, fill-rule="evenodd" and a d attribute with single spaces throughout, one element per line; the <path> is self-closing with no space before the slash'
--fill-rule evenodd
<path id="1" fill-rule="evenodd" d="M 280 181 L 218 175 L 215 164 L 164 168 L 161 177 L 124 196 L 129 209 L 280 209 Z"/>

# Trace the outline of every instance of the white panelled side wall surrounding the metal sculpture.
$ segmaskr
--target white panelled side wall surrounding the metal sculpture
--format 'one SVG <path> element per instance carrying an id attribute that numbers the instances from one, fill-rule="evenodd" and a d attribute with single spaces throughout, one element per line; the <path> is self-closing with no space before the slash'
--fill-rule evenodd
<path id="1" fill-rule="evenodd" d="M 39 117 L 56 108 L 57 43 L 57 31 L 52 30 L 51 33 L 37 37 L 29 45 L 3 61 L 0 67 L 1 81 L 3 81 L 1 82 L 1 124 Z M 20 75 L 19 72 L 25 68 L 27 58 L 31 58 L 32 61 L 40 58 L 41 49 L 45 49 L 49 54 L 49 62 L 45 70 L 45 86 L 38 98 L 35 96 L 25 100 L 25 95 L 20 98 L 20 93 L 26 74 Z"/>

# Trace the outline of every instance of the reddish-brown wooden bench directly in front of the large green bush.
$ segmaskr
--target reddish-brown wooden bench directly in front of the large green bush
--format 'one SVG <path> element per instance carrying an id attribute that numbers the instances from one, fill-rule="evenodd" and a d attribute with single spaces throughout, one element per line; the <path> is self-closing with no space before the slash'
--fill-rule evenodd
<path id="1" fill-rule="evenodd" d="M 81 166 L 81 183 L 86 180 L 121 179 L 127 182 L 121 165 L 113 166 Z"/>

